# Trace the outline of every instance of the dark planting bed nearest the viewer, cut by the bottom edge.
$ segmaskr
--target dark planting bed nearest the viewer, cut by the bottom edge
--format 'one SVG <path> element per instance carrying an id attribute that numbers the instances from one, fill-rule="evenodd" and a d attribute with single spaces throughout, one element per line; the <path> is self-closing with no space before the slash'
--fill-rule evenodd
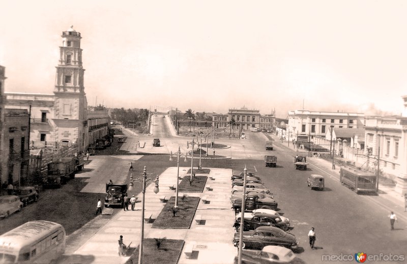
<path id="1" fill-rule="evenodd" d="M 166 238 L 143 239 L 143 262 L 176 264 L 181 255 L 183 240 Z M 133 251 L 126 264 L 138 262 L 138 247 Z"/>

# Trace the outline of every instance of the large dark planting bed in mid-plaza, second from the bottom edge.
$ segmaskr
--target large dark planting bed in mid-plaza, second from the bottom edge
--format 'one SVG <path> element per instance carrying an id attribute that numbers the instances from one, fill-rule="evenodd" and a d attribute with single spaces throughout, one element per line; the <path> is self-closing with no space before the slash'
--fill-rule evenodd
<path id="1" fill-rule="evenodd" d="M 199 200 L 199 197 L 180 195 L 178 196 L 178 208 L 175 209 L 175 196 L 171 196 L 151 227 L 189 228 L 196 208 L 198 207 Z"/>

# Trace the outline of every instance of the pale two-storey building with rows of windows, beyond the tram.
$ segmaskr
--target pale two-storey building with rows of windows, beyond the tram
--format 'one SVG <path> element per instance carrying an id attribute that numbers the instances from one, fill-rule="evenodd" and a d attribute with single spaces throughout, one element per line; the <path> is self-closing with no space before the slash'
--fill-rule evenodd
<path id="1" fill-rule="evenodd" d="M 363 124 L 362 113 L 288 111 L 288 140 L 312 141 L 314 137 L 325 138 L 331 127 L 356 129 L 363 128 Z"/>

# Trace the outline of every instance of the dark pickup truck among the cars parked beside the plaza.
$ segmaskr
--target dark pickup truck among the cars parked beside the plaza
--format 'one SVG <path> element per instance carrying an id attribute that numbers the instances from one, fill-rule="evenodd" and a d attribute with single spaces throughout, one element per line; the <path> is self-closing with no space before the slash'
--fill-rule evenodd
<path id="1" fill-rule="evenodd" d="M 263 199 L 261 199 L 263 198 Z M 254 209 L 277 209 L 277 202 L 267 196 L 261 196 L 255 192 L 250 192 L 246 195 L 245 211 L 252 212 Z M 239 213 L 242 211 L 242 198 L 237 198 L 232 202 L 232 209 Z"/>

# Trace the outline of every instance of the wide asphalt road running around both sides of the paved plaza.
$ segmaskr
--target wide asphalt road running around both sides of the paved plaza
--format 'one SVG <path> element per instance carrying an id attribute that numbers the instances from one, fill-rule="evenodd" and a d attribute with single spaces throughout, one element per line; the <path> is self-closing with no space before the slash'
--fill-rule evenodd
<path id="1" fill-rule="evenodd" d="M 175 153 L 180 147 L 183 154 L 187 152 L 186 142 L 191 139 L 174 136 L 168 127 L 167 118 L 162 115 L 153 117 L 153 135 L 150 136 L 139 136 L 123 129 L 127 137 L 126 142 L 119 146 L 116 141 L 111 147 L 117 150 L 120 148 L 117 153 L 123 155 L 92 156 L 85 170 L 78 174 L 75 180 L 63 186 L 61 190 L 41 192 L 38 204 L 30 205 L 23 212 L 3 220 L 2 232 L 27 220 L 54 220 L 66 226 L 67 234 L 70 235 L 67 251 L 73 252 L 92 236 L 93 232 L 90 230 L 102 228 L 112 217 L 93 215 L 97 198 L 103 201 L 105 183 L 109 179 L 113 182 L 128 182 L 130 173 L 135 177 L 139 176 L 144 166 L 147 167 L 148 175 L 153 178 L 166 168 L 177 166 L 176 161 L 169 161 L 170 151 Z M 237 171 L 243 171 L 244 167 L 247 167 L 249 171 L 261 176 L 278 202 L 280 213 L 288 217 L 295 227 L 292 233 L 300 242 L 300 249 L 296 251 L 299 258 L 307 263 L 321 263 L 323 255 L 354 256 L 358 252 L 367 255 L 406 253 L 406 223 L 400 219 L 396 223 L 396 230 L 390 231 L 388 215 L 391 208 L 383 207 L 386 203 L 381 196 L 358 195 L 341 186 L 337 173 L 332 174 L 317 168 L 313 165 L 312 158 L 308 171 L 295 170 L 293 150 L 274 142 L 274 150 L 267 151 L 264 145 L 267 138 L 263 133 L 248 131 L 246 135 L 247 139 L 240 140 L 216 139 L 216 143 L 230 146 L 216 150 L 216 155 L 228 159 L 202 159 L 201 165 Z M 154 138 L 159 138 L 162 146 L 153 147 Z M 265 167 L 263 157 L 269 153 L 278 157 L 277 168 Z M 129 172 L 130 162 L 133 162 L 133 172 Z M 188 164 L 189 162 L 190 159 Z M 194 166 L 197 162 L 198 159 L 194 159 Z M 310 190 L 306 185 L 310 174 L 325 176 L 324 191 Z M 129 194 L 137 194 L 140 191 L 139 186 L 136 184 Z M 111 211 L 114 215 L 118 210 L 121 209 Z M 316 232 L 316 249 L 313 250 L 309 247 L 307 237 L 312 226 Z"/>

